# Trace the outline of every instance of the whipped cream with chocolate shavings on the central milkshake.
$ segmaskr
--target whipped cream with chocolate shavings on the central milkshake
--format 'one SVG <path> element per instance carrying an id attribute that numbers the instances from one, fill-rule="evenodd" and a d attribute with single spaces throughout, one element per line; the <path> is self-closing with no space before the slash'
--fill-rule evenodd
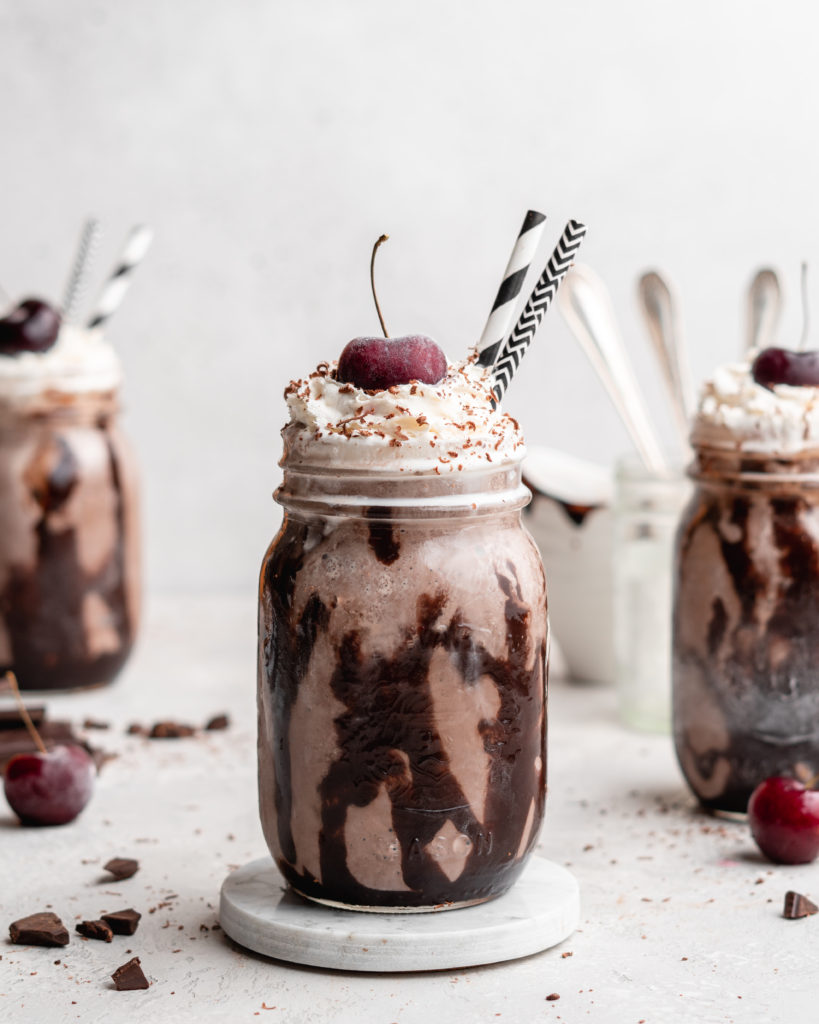
<path id="1" fill-rule="evenodd" d="M 322 362 L 285 391 L 290 423 L 283 464 L 452 473 L 524 455 L 517 422 L 491 407 L 490 372 L 475 356 L 449 364 L 438 384 L 363 391 Z"/>

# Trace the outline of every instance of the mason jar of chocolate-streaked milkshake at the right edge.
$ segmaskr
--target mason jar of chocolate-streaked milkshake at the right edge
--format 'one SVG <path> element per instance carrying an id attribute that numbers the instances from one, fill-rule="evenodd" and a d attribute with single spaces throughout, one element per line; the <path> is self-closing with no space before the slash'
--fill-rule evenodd
<path id="1" fill-rule="evenodd" d="M 819 772 L 819 453 L 698 445 L 677 539 L 674 733 L 710 809 Z"/>

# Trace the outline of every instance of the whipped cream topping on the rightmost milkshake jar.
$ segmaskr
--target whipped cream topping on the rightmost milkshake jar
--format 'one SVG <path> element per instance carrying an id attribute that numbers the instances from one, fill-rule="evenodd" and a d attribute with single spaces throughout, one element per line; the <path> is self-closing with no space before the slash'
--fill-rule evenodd
<path id="1" fill-rule="evenodd" d="M 750 370 L 750 362 L 730 364 L 705 382 L 692 443 L 767 455 L 819 447 L 819 388 L 776 384 L 769 390 Z"/>

